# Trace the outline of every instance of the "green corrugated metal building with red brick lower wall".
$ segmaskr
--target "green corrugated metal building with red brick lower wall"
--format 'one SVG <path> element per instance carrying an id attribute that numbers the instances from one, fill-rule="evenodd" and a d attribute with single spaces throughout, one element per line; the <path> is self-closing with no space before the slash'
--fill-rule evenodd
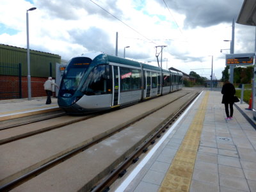
<path id="1" fill-rule="evenodd" d="M 30 50 L 32 97 L 45 96 L 44 82 L 56 76 L 61 56 Z M 19 65 L 21 63 L 21 65 Z M 0 99 L 28 97 L 27 49 L 0 44 Z"/>

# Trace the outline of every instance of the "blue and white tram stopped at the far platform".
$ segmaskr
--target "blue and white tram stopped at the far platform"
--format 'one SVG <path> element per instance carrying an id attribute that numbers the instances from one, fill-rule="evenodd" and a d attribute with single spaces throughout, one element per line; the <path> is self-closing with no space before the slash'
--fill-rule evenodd
<path id="1" fill-rule="evenodd" d="M 72 58 L 65 69 L 58 104 L 67 113 L 118 108 L 182 88 L 182 73 L 104 53 Z"/>

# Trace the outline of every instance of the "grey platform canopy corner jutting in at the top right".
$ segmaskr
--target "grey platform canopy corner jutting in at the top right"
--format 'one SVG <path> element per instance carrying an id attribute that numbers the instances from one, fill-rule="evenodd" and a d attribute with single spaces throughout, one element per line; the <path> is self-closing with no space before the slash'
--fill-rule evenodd
<path id="1" fill-rule="evenodd" d="M 236 22 L 247 26 L 256 26 L 256 1 L 244 0 Z"/>

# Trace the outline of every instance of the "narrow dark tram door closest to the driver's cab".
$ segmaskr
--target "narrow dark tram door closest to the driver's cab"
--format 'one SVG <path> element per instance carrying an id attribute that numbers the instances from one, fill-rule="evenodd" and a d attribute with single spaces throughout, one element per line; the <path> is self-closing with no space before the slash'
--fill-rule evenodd
<path id="1" fill-rule="evenodd" d="M 112 96 L 112 106 L 118 106 L 119 104 L 119 93 L 120 93 L 120 79 L 119 79 L 119 68 L 117 66 L 112 66 L 113 71 L 113 96 Z"/>

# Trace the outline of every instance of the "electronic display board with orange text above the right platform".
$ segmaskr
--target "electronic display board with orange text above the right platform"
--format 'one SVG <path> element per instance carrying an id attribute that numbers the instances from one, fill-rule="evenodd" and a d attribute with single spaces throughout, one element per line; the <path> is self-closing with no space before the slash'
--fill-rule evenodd
<path id="1" fill-rule="evenodd" d="M 255 54 L 227 54 L 226 65 L 253 65 Z"/>

